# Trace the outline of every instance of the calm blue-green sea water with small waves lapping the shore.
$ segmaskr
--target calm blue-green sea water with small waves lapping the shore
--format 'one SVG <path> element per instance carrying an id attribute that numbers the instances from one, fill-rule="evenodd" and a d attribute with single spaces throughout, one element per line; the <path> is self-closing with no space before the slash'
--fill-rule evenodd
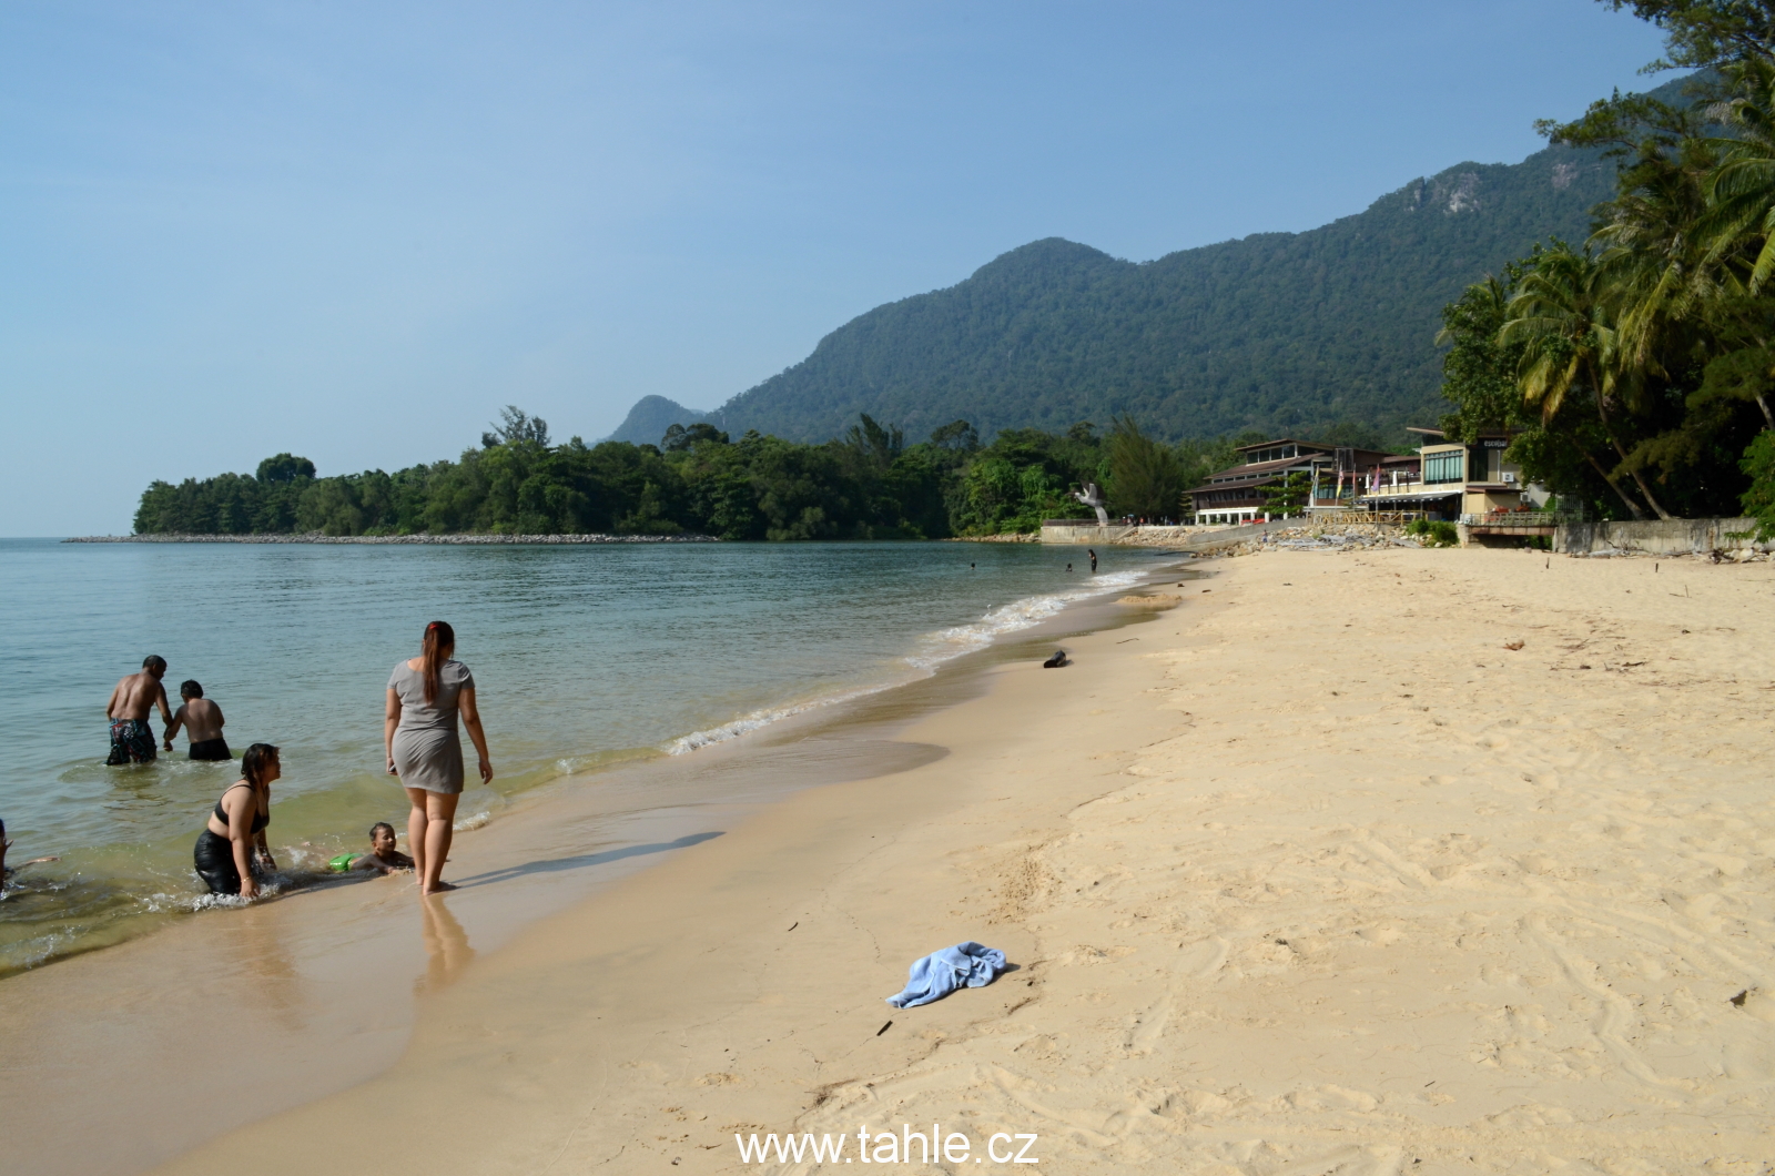
<path id="1" fill-rule="evenodd" d="M 456 627 L 476 675 L 493 787 L 511 794 L 685 753 L 928 675 L 1157 556 L 1035 544 L 659 544 L 375 547 L 0 540 L 0 819 L 20 872 L 0 901 L 0 973 L 202 908 L 190 849 L 236 766 L 106 767 L 105 702 L 142 657 L 197 679 L 236 755 L 284 748 L 270 842 L 291 878 L 398 826 L 382 773 L 383 686 L 424 624 Z M 969 567 L 974 565 L 974 567 Z M 158 716 L 153 719 L 160 732 Z M 472 775 L 472 762 L 470 762 Z"/>

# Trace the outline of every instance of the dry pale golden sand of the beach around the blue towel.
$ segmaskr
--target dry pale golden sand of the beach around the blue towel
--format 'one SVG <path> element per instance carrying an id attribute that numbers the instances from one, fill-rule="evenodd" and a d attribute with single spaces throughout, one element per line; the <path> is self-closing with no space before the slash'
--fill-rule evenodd
<path id="1" fill-rule="evenodd" d="M 903 1171 L 1019 1135 L 1067 1172 L 1768 1171 L 1768 568 L 1203 570 L 994 670 L 903 771 L 474 959 L 435 931 L 398 1061 L 160 1171 L 813 1171 L 735 1133 L 888 1162 L 859 1128 L 902 1124 L 971 1148 Z M 1015 968 L 884 1004 L 962 940 Z"/>

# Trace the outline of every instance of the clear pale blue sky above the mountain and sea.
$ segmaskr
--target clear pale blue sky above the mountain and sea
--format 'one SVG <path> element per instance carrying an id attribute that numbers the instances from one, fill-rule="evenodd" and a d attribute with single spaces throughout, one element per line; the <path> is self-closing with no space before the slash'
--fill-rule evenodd
<path id="1" fill-rule="evenodd" d="M 0 535 L 715 407 L 1067 236 L 1308 229 L 1649 89 L 1592 0 L 0 7 Z"/>

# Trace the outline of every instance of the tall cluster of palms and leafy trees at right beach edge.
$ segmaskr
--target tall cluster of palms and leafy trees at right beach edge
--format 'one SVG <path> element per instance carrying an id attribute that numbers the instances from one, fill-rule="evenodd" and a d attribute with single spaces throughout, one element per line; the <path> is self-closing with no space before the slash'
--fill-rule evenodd
<path id="1" fill-rule="evenodd" d="M 1603 519 L 1748 512 L 1775 533 L 1775 9 L 1601 0 L 1665 32 L 1677 101 L 1621 94 L 1555 144 L 1617 160 L 1583 242 L 1550 240 L 1443 311 L 1452 439 Z"/>

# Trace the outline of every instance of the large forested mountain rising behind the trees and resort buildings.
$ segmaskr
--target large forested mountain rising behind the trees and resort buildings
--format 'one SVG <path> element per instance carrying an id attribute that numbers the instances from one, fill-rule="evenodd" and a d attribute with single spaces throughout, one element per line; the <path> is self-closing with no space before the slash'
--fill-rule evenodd
<path id="1" fill-rule="evenodd" d="M 1535 242 L 1582 242 L 1613 176 L 1596 151 L 1555 146 L 1415 179 L 1308 233 L 1148 263 L 1033 242 L 854 318 L 699 419 L 824 441 L 859 412 L 914 439 L 955 419 L 992 435 L 1125 412 L 1172 439 L 1335 430 L 1404 442 L 1402 425 L 1447 407 L 1441 307 Z"/>

